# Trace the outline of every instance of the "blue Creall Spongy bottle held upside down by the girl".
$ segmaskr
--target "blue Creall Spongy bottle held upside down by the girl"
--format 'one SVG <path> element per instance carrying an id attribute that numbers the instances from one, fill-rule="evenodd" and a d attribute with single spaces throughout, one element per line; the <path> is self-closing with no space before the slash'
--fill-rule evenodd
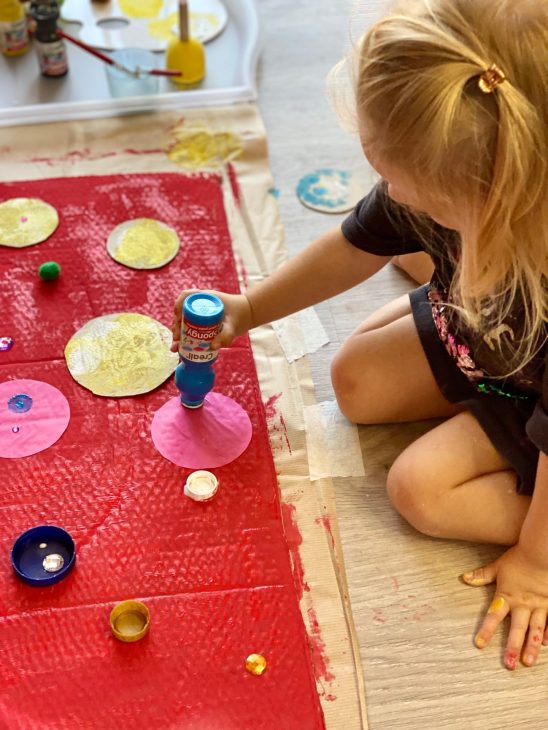
<path id="1" fill-rule="evenodd" d="M 221 330 L 224 306 L 214 294 L 197 292 L 185 299 L 182 315 L 175 385 L 183 406 L 200 408 L 215 382 L 213 364 L 219 353 L 211 349 L 211 341 Z"/>

